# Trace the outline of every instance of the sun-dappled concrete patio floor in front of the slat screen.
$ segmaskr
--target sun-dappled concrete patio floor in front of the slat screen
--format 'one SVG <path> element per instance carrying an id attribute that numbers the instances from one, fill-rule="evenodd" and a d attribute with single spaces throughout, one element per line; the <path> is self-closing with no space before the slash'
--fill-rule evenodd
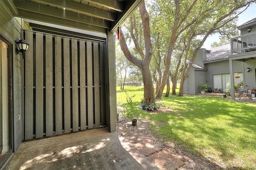
<path id="1" fill-rule="evenodd" d="M 156 170 L 146 156 L 107 128 L 24 141 L 8 170 Z"/>

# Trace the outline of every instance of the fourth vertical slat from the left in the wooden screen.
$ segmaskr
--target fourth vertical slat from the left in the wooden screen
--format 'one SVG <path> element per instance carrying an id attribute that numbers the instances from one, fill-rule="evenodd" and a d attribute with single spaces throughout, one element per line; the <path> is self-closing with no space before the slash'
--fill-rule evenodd
<path id="1" fill-rule="evenodd" d="M 55 36 L 55 134 L 62 134 L 61 37 Z"/>

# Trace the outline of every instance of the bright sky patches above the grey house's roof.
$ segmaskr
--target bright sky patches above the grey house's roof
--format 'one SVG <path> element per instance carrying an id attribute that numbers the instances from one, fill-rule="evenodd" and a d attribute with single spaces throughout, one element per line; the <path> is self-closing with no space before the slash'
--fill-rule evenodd
<path id="1" fill-rule="evenodd" d="M 252 4 L 244 12 L 242 12 L 242 14 L 238 16 L 237 26 L 242 25 L 243 23 L 246 23 L 253 18 L 256 18 L 256 4 Z M 204 42 L 202 48 L 211 49 L 211 44 L 214 41 L 219 42 L 219 39 L 219 35 L 210 35 Z"/>

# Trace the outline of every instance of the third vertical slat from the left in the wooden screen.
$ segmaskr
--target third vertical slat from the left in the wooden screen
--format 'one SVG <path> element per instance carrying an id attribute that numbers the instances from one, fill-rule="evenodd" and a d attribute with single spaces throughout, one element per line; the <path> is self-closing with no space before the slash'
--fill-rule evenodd
<path id="1" fill-rule="evenodd" d="M 46 34 L 46 136 L 53 135 L 52 35 Z"/>

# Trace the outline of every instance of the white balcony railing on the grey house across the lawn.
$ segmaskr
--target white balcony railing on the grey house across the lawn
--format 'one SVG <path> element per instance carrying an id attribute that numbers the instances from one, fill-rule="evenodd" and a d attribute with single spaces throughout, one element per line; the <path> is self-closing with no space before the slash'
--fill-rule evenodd
<path id="1" fill-rule="evenodd" d="M 231 55 L 256 51 L 256 32 L 230 39 Z"/>

